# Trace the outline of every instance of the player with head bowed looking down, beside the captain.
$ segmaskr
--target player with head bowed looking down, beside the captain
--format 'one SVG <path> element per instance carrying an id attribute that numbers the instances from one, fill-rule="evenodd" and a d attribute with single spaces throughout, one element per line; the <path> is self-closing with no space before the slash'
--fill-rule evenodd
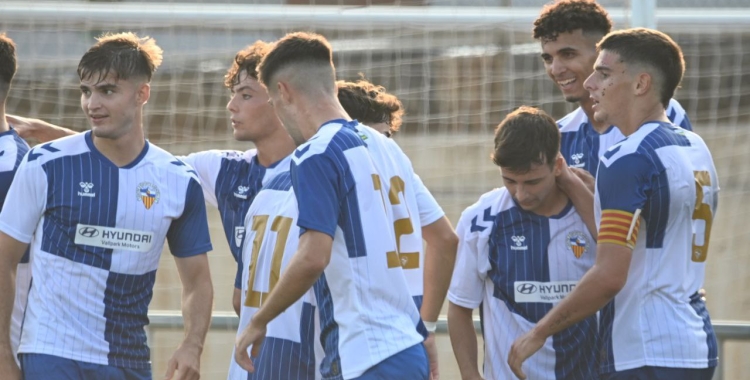
<path id="1" fill-rule="evenodd" d="M 482 195 L 461 215 L 448 293 L 448 331 L 463 379 L 482 378 L 473 309 L 483 304 L 483 378 L 509 379 L 513 374 L 499 358 L 593 265 L 594 239 L 563 191 L 585 185 L 566 167 L 559 147 L 555 120 L 535 108 L 519 108 L 495 130 L 492 158 L 505 187 Z M 592 316 L 545 342 L 531 378 L 595 377 L 596 326 Z"/>

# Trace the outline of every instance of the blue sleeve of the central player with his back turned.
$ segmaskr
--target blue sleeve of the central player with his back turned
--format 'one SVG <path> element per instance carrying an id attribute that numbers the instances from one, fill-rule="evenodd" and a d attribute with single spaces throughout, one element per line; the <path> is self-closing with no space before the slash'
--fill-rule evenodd
<path id="1" fill-rule="evenodd" d="M 292 162 L 292 187 L 297 198 L 300 235 L 315 230 L 334 237 L 345 196 L 342 169 L 326 154 L 316 154 L 299 164 Z"/>

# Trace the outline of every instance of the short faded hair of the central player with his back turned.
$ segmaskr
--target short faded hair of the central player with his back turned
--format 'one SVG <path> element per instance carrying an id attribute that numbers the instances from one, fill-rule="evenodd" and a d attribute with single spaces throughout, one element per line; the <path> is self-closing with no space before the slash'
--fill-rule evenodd
<path id="1" fill-rule="evenodd" d="M 258 81 L 268 86 L 274 74 L 290 64 L 328 64 L 333 70 L 331 44 L 320 34 L 295 32 L 276 41 L 258 65 Z"/>

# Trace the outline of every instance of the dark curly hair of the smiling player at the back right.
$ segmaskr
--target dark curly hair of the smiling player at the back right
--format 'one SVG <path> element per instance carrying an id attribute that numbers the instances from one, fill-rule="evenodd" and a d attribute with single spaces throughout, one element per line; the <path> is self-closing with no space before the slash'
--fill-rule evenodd
<path id="1" fill-rule="evenodd" d="M 560 0 L 542 8 L 534 20 L 534 39 L 555 41 L 560 33 L 581 29 L 604 36 L 612 30 L 612 19 L 594 0 Z"/>

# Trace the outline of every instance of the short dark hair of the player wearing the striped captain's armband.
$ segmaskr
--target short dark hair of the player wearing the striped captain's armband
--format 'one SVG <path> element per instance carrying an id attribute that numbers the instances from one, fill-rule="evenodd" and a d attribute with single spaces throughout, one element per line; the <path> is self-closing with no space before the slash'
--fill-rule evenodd
<path id="1" fill-rule="evenodd" d="M 623 29 L 606 35 L 596 45 L 598 52 L 607 50 L 620 56 L 628 65 L 645 65 L 656 70 L 661 82 L 659 100 L 664 108 L 674 97 L 685 73 L 685 58 L 682 49 L 668 35 L 653 29 Z"/>

